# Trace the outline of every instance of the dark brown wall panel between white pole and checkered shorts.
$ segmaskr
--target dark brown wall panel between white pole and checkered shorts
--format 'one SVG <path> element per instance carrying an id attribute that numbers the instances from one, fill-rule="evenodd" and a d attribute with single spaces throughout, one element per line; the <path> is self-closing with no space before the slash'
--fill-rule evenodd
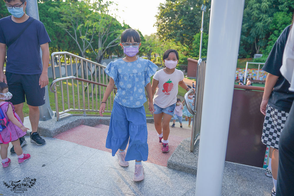
<path id="1" fill-rule="evenodd" d="M 260 140 L 262 96 L 263 91 L 234 89 L 226 161 L 263 167 L 266 145 Z"/>

